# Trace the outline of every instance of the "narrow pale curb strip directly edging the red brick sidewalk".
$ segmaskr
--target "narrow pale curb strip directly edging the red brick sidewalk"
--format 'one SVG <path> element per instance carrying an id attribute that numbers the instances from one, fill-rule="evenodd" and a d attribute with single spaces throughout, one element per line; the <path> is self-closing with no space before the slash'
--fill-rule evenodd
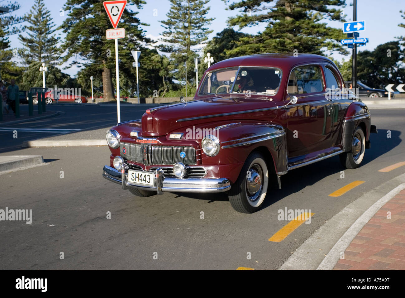
<path id="1" fill-rule="evenodd" d="M 390 199 L 395 197 L 400 191 L 405 189 L 405 183 L 399 184 L 392 191 L 384 195 L 381 199 L 375 202 L 369 209 L 366 210 L 354 223 L 353 225 L 343 234 L 343 236 L 336 242 L 335 246 L 329 251 L 322 263 L 318 266 L 316 270 L 333 270 L 336 263 L 339 262 L 340 253 L 346 251 L 350 243 L 361 231 L 361 229 L 369 222 L 369 220 L 374 216 L 375 213 L 380 210 Z"/>

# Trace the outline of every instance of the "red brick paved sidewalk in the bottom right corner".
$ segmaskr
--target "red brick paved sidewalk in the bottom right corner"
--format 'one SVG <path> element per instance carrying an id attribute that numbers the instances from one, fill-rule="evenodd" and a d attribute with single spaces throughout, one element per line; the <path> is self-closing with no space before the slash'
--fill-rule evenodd
<path id="1" fill-rule="evenodd" d="M 405 189 L 364 225 L 333 270 L 405 270 Z"/>

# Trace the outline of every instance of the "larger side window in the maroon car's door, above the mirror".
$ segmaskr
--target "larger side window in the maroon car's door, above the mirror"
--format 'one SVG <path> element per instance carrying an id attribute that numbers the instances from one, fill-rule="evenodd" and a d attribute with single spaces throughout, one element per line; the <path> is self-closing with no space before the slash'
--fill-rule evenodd
<path id="1" fill-rule="evenodd" d="M 305 65 L 296 67 L 288 80 L 289 94 L 307 94 L 322 92 L 322 75 L 319 66 Z"/>

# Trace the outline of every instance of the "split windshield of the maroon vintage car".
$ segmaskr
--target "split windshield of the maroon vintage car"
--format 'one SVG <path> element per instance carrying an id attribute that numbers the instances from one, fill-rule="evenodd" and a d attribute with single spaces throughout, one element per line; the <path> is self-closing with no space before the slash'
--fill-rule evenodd
<path id="1" fill-rule="evenodd" d="M 271 67 L 219 69 L 205 76 L 198 92 L 203 94 L 252 93 L 274 95 L 279 89 L 281 70 Z"/>

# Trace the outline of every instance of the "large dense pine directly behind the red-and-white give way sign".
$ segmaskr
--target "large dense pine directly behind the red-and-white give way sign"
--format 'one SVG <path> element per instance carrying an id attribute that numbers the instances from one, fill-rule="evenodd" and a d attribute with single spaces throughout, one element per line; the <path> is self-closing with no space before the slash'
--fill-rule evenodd
<path id="1" fill-rule="evenodd" d="M 120 63 L 120 75 L 122 74 L 122 65 L 132 66 L 134 61 L 130 53 L 131 50 L 141 47 L 141 42 L 148 42 L 145 38 L 136 17 L 138 12 L 132 10 L 132 6 L 141 9 L 143 0 L 128 0 L 125 11 L 121 17 L 119 28 L 125 28 L 125 38 L 118 41 L 118 51 Z M 63 61 L 70 58 L 71 66 L 84 66 L 89 75 L 96 81 L 102 82 L 103 97 L 106 101 L 115 100 L 113 88 L 113 75 L 115 74 L 115 45 L 114 40 L 107 40 L 105 30 L 111 29 L 111 23 L 102 4 L 102 0 L 67 0 L 64 6 L 68 17 L 64 20 L 61 28 L 66 33 L 66 39 L 62 45 L 62 50 L 66 51 Z M 122 62 L 125 63 L 122 63 Z M 115 77 L 115 76 L 114 76 Z M 87 81 L 90 78 L 87 77 Z M 120 80 L 121 81 L 121 80 Z M 136 80 L 135 80 L 136 81 Z"/>

